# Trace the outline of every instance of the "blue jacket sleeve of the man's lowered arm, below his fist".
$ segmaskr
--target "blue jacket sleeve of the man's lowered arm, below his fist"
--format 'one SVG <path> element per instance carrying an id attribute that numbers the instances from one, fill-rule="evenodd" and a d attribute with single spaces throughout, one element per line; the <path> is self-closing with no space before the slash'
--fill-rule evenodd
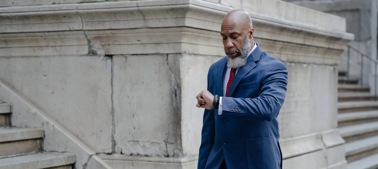
<path id="1" fill-rule="evenodd" d="M 209 73 L 208 72 L 208 90 L 209 90 Z M 214 144 L 215 135 L 215 120 L 214 120 L 214 109 L 205 109 L 203 113 L 203 126 L 201 135 L 201 146 L 198 155 L 198 169 L 204 169 L 206 162 Z"/>

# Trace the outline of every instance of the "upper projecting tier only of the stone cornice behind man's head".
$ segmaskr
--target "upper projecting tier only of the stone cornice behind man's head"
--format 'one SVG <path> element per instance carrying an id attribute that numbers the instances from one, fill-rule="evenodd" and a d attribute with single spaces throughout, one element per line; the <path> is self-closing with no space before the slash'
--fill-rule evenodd
<path id="1" fill-rule="evenodd" d="M 285 3 L 285 2 L 282 2 Z M 286 4 L 288 5 L 288 4 Z M 292 4 L 289 5 L 290 7 Z M 345 19 L 295 6 L 310 19 L 274 17 L 274 13 L 249 12 L 255 23 L 352 39 Z M 297 9 L 298 8 L 298 9 Z M 226 12 L 234 8 L 202 0 L 138 0 L 0 8 L 1 33 L 162 28 L 187 26 L 219 31 Z M 291 13 L 288 13 L 290 15 Z M 310 14 L 310 12 L 312 12 Z M 295 14 L 295 13 L 294 13 Z M 292 15 L 292 14 L 291 14 Z M 307 16 L 312 15 L 312 16 Z M 202 23 L 201 23 L 202 22 Z M 130 24 L 132 23 L 132 24 Z"/>

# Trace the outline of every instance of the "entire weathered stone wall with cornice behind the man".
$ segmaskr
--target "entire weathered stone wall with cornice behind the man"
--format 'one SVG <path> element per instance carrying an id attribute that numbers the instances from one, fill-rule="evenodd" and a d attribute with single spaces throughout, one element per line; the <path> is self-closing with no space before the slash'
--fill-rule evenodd
<path id="1" fill-rule="evenodd" d="M 284 168 L 345 168 L 336 77 L 353 35 L 344 18 L 279 0 L 12 2 L 0 8 L 0 100 L 13 104 L 14 126 L 43 128 L 44 149 L 75 153 L 77 168 L 196 167 L 195 95 L 224 56 L 220 25 L 235 8 L 253 11 L 255 41 L 289 71 Z"/>

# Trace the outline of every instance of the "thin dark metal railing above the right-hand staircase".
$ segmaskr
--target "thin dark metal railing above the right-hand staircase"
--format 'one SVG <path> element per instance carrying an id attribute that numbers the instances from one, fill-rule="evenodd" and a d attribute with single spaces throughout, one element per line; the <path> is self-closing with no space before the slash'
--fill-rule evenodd
<path id="1" fill-rule="evenodd" d="M 369 59 L 370 61 L 373 61 L 375 63 L 375 66 L 374 66 L 374 100 L 376 101 L 377 100 L 377 65 L 378 65 L 378 61 L 371 58 L 369 55 L 366 55 L 364 54 L 363 52 L 359 51 L 358 49 L 356 48 L 353 48 L 352 46 L 349 46 L 348 45 L 348 51 L 347 51 L 347 72 L 346 72 L 346 76 L 347 76 L 347 81 L 349 81 L 349 61 L 350 61 L 350 49 L 353 49 L 354 51 L 356 51 L 358 54 L 361 55 L 361 75 L 360 75 L 360 78 L 359 78 L 359 82 L 360 82 L 360 85 L 361 85 L 361 88 L 360 88 L 360 92 L 363 92 L 363 77 L 364 77 L 364 57 Z"/>

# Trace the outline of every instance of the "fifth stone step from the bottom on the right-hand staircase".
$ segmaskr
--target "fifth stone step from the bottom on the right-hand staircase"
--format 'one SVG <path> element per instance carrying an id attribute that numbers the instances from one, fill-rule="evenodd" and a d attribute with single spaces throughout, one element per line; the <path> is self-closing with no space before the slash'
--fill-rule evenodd
<path id="1" fill-rule="evenodd" d="M 378 109 L 378 101 L 345 101 L 337 103 L 339 113 Z"/>

